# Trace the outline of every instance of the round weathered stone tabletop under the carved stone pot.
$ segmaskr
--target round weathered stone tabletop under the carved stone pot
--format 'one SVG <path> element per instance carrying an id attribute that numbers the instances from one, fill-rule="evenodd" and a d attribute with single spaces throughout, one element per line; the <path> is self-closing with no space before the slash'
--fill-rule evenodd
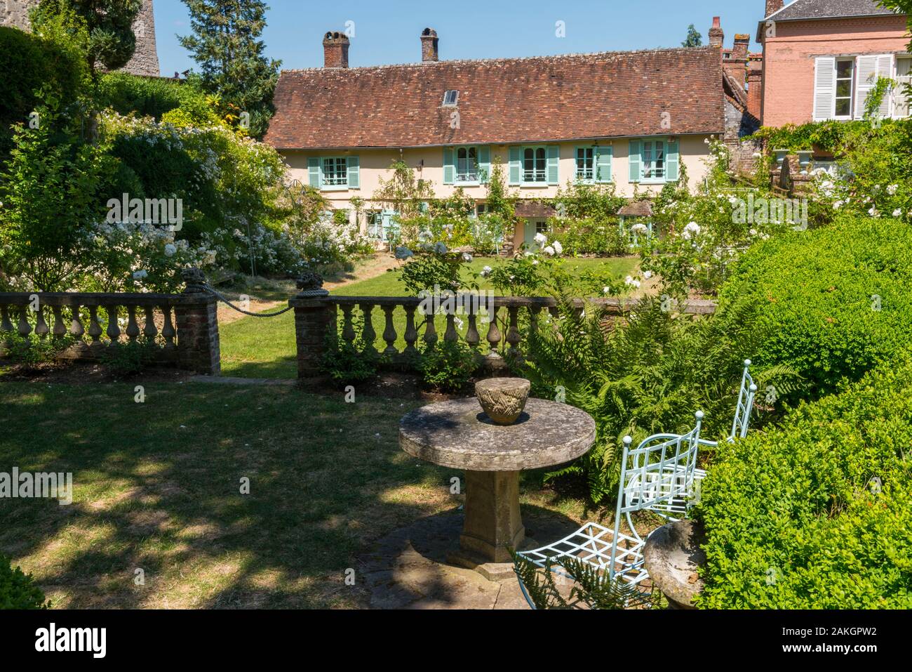
<path id="1" fill-rule="evenodd" d="M 544 399 L 529 399 L 509 426 L 494 425 L 474 397 L 430 404 L 399 421 L 399 446 L 409 455 L 469 471 L 553 467 L 583 455 L 595 441 L 590 415 Z"/>

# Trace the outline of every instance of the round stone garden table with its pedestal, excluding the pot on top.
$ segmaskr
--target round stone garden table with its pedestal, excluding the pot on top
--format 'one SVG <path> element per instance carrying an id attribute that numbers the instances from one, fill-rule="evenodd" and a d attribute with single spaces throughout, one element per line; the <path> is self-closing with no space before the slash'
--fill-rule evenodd
<path id="1" fill-rule="evenodd" d="M 475 397 L 430 404 L 399 421 L 399 446 L 406 453 L 465 470 L 460 551 L 449 560 L 478 569 L 512 562 L 508 547 L 519 549 L 525 538 L 519 472 L 569 462 L 595 440 L 590 415 L 544 399 L 529 399 L 508 426 L 493 424 Z"/>

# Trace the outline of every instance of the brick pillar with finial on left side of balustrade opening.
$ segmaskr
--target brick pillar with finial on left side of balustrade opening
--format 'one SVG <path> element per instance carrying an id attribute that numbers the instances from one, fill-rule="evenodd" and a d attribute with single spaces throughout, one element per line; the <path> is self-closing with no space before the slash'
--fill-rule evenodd
<path id="1" fill-rule="evenodd" d="M 205 277 L 199 269 L 188 268 L 183 277 L 187 289 L 174 306 L 178 365 L 202 375 L 221 375 L 218 299 L 202 287 Z"/>

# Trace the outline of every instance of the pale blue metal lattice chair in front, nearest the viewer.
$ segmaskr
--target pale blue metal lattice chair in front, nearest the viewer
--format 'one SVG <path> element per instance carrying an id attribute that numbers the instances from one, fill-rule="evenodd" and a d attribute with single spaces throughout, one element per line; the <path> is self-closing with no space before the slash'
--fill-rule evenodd
<path id="1" fill-rule="evenodd" d="M 668 520 L 677 520 L 672 514 L 684 510 L 679 502 L 688 498 L 693 480 L 700 446 L 702 411 L 697 412 L 696 418 L 697 424 L 687 434 L 649 436 L 636 448 L 630 447 L 633 441 L 630 436 L 624 437 L 613 530 L 595 522 L 587 522 L 560 541 L 532 551 L 521 551 L 516 555 L 571 579 L 573 577 L 555 562 L 572 557 L 595 567 L 608 581 L 637 586 L 648 577 L 648 572 L 643 567 L 646 539 L 637 532 L 630 514 L 651 510 Z M 627 520 L 629 534 L 621 532 L 622 516 Z M 535 608 L 521 578 L 519 583 L 526 602 Z"/>

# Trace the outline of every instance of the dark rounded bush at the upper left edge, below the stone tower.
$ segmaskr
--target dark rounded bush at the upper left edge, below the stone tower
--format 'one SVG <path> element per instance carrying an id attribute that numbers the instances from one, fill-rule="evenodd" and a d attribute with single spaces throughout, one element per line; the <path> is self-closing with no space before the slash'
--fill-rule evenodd
<path id="1" fill-rule="evenodd" d="M 77 100 L 88 77 L 78 45 L 59 23 L 47 25 L 40 35 L 0 26 L 0 72 L 5 73 L 0 78 L 0 159 L 12 146 L 9 127 L 27 125 L 42 105 L 40 90 L 67 106 Z"/>

